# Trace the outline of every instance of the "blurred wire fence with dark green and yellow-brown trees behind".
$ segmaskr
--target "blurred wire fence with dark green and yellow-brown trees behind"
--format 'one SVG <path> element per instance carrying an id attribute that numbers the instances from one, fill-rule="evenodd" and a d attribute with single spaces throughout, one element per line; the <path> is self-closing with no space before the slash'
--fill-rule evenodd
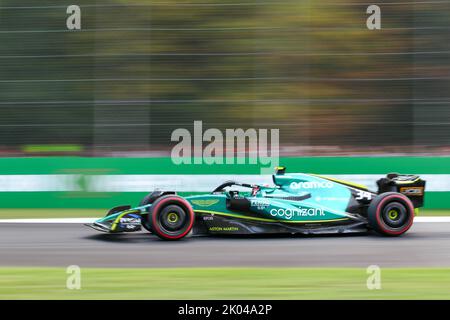
<path id="1" fill-rule="evenodd" d="M 450 152 L 450 1 L 379 3 L 380 30 L 354 0 L 83 0 L 68 30 L 71 4 L 0 3 L 3 154 L 164 153 L 194 120 L 279 128 L 284 154 Z"/>

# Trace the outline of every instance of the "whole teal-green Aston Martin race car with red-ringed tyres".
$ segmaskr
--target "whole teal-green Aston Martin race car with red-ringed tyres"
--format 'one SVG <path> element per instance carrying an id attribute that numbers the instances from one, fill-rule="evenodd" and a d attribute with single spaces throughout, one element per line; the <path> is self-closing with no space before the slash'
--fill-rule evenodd
<path id="1" fill-rule="evenodd" d="M 226 181 L 209 194 L 154 191 L 139 206 L 118 206 L 88 226 L 103 232 L 141 228 L 165 240 L 214 234 L 341 234 L 374 230 L 399 236 L 423 206 L 425 181 L 388 174 L 378 190 L 278 167 L 273 185 Z"/>

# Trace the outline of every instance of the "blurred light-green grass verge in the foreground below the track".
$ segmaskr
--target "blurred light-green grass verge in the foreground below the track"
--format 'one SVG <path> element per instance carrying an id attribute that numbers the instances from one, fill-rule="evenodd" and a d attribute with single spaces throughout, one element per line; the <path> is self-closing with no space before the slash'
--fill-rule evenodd
<path id="1" fill-rule="evenodd" d="M 450 269 L 383 268 L 368 290 L 361 268 L 0 268 L 0 299 L 450 299 Z"/>

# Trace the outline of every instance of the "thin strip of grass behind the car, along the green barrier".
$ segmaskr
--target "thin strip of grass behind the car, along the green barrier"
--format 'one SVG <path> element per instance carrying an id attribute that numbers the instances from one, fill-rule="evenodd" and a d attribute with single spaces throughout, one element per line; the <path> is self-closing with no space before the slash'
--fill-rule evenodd
<path id="1" fill-rule="evenodd" d="M 107 209 L 0 209 L 0 219 L 22 218 L 95 218 Z M 450 210 L 420 210 L 419 216 L 450 216 Z"/>

